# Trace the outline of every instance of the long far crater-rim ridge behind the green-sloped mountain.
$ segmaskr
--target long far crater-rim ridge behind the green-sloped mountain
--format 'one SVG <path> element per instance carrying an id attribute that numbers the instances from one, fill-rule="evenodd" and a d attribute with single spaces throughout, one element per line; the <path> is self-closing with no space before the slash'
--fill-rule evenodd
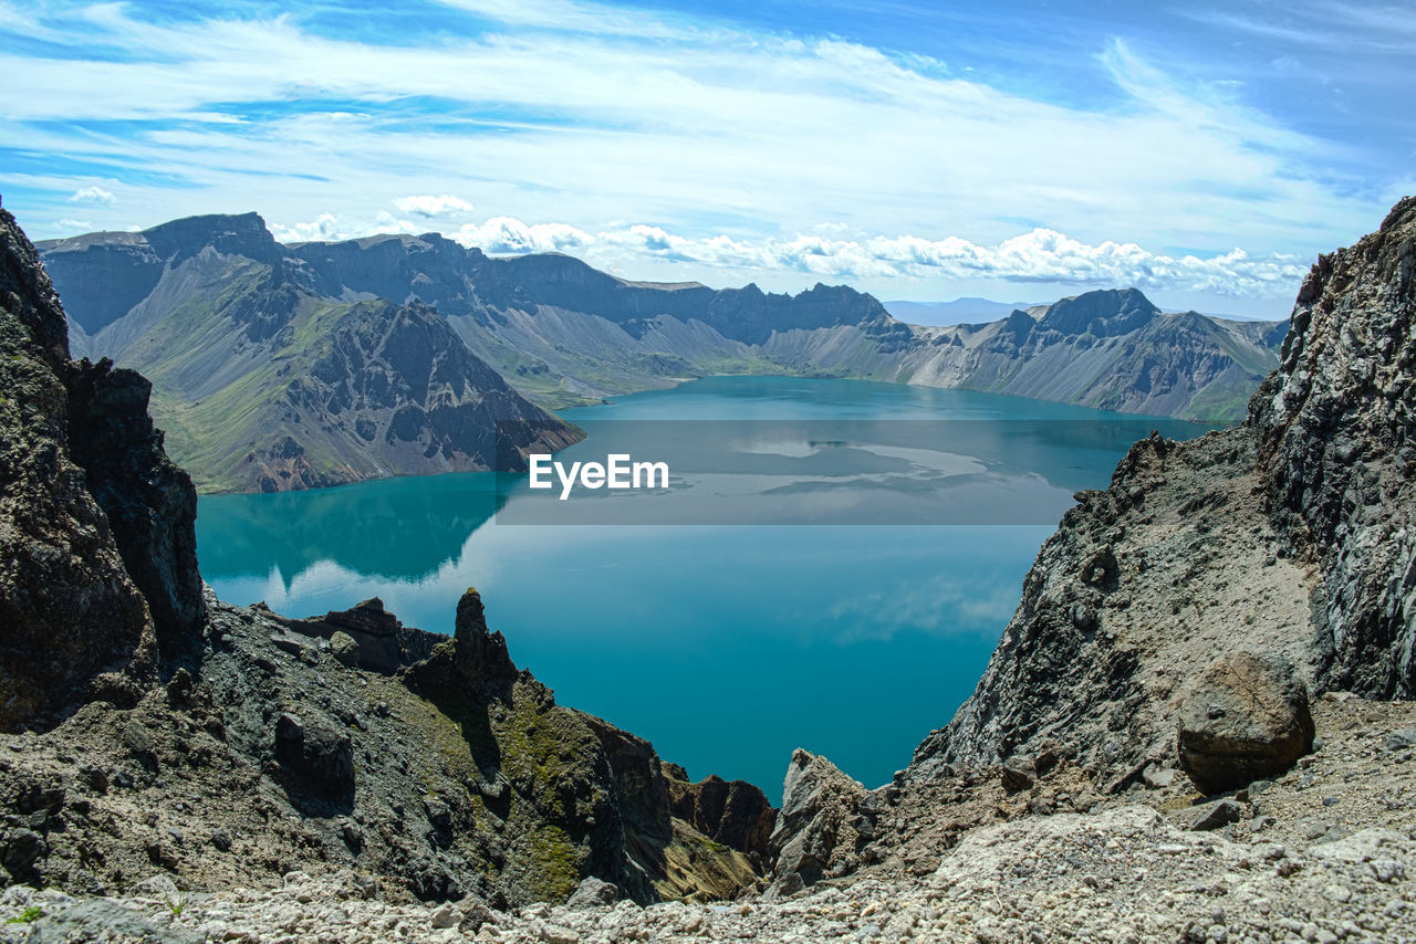
<path id="1" fill-rule="evenodd" d="M 221 258 L 249 252 L 323 300 L 435 307 L 469 350 L 548 409 L 708 374 L 793 374 L 960 386 L 1218 423 L 1243 413 L 1281 341 L 1279 324 L 1160 314 L 1136 289 L 1090 292 L 986 324 L 919 327 L 844 286 L 787 296 L 750 284 L 637 283 L 558 253 L 491 258 L 438 234 L 272 249 L 253 214 L 176 221 L 152 232 L 202 226 Z M 78 299 L 76 350 L 126 362 L 154 300 L 143 296 L 127 314 L 116 309 L 152 279 L 156 251 L 130 234 L 41 248 L 61 289 Z M 108 277 L 103 259 L 113 260 L 120 301 L 93 300 L 102 293 L 92 283 Z M 222 290 L 195 279 L 184 289 L 194 297 Z"/>

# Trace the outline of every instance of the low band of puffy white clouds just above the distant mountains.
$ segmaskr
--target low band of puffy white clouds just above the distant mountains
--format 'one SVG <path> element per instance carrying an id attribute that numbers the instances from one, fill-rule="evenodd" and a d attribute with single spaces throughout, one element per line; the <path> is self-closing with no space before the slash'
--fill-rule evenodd
<path id="1" fill-rule="evenodd" d="M 726 234 L 688 236 L 663 226 L 616 222 L 596 232 L 565 222 L 528 224 L 491 217 L 446 234 L 489 255 L 566 252 L 624 275 L 649 262 L 712 267 L 728 279 L 753 272 L 800 272 L 843 282 L 879 279 L 991 279 L 1092 287 L 1138 286 L 1158 290 L 1211 292 L 1239 297 L 1286 293 L 1307 270 L 1294 256 L 1250 256 L 1231 249 L 1208 256 L 1170 255 L 1134 242 L 1087 243 L 1055 229 L 1029 232 L 983 245 L 960 236 L 925 239 L 912 235 L 833 238 L 814 232 L 780 239 L 741 239 Z M 310 222 L 275 225 L 278 239 L 353 239 L 378 232 L 416 232 L 408 221 L 381 214 L 357 222 L 321 214 Z M 827 232 L 835 228 L 826 228 Z M 688 273 L 691 275 L 691 273 Z"/>

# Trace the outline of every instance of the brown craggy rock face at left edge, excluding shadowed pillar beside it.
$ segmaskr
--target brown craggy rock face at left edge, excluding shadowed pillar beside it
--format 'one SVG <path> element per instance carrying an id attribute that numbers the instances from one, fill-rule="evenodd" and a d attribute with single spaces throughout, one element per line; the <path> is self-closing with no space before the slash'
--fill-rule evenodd
<path id="1" fill-rule="evenodd" d="M 0 727 L 132 702 L 156 631 L 74 456 L 64 311 L 0 211 Z"/>

